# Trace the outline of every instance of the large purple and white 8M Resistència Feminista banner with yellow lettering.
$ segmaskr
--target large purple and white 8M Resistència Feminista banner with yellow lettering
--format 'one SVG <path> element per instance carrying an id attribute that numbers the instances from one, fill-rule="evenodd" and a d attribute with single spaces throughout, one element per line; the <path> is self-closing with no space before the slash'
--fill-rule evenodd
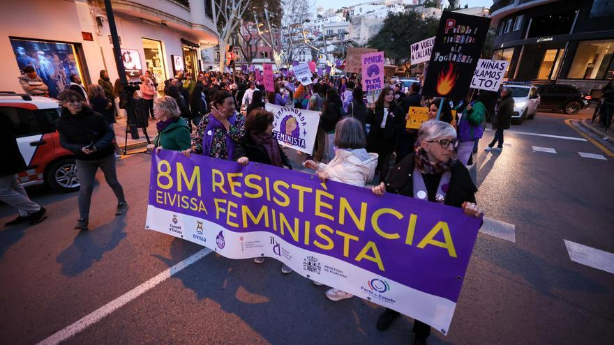
<path id="1" fill-rule="evenodd" d="M 278 259 L 444 334 L 480 226 L 460 208 L 267 164 L 152 155 L 146 229 L 231 259 Z"/>

